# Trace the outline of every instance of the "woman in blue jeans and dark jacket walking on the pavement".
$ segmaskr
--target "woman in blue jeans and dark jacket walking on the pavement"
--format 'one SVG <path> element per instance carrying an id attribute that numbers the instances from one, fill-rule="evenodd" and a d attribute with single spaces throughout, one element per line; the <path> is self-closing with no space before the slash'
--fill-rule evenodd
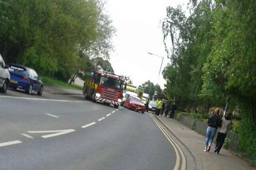
<path id="1" fill-rule="evenodd" d="M 218 127 L 221 126 L 221 118 L 219 116 L 220 109 L 215 109 L 215 113 L 211 114 L 208 118 L 208 127 L 206 130 L 206 141 L 205 141 L 205 148 L 204 152 L 209 152 L 211 150 L 211 144 L 213 138 L 215 136 L 216 130 Z"/>

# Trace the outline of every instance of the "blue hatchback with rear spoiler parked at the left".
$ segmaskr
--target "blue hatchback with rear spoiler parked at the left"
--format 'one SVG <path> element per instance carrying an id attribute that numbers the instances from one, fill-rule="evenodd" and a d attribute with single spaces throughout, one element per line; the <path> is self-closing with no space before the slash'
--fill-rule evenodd
<path id="1" fill-rule="evenodd" d="M 43 94 L 43 82 L 34 69 L 11 63 L 9 64 L 9 73 L 11 75 L 9 87 L 23 89 L 28 94 L 31 94 L 32 91 L 37 92 L 37 95 Z"/>

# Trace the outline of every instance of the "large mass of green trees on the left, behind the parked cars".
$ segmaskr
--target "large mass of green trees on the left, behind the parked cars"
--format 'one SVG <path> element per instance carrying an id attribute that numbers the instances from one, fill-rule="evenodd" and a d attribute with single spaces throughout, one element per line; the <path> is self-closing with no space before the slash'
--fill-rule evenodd
<path id="1" fill-rule="evenodd" d="M 0 53 L 63 81 L 109 57 L 115 28 L 101 0 L 1 0 Z"/>

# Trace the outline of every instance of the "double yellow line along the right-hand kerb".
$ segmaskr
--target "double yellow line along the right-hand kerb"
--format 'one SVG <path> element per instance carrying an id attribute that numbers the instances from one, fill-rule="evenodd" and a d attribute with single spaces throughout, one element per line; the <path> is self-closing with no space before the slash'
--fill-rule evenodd
<path id="1" fill-rule="evenodd" d="M 181 164 L 181 169 L 180 170 L 186 170 L 186 157 L 182 150 L 180 149 L 180 146 L 171 138 L 171 136 L 163 129 L 163 127 L 160 125 L 160 123 L 154 118 L 154 116 L 150 113 L 151 118 L 153 121 L 156 123 L 158 128 L 161 130 L 163 135 L 167 138 L 167 140 L 171 143 L 171 145 L 174 148 L 175 154 L 176 154 L 176 163 L 173 168 L 173 170 L 178 170 Z M 180 159 L 181 156 L 181 159 Z"/>

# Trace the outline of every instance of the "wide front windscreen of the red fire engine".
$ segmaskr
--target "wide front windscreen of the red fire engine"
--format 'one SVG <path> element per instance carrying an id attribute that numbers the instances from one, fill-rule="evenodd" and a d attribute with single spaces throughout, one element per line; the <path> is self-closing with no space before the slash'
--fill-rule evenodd
<path id="1" fill-rule="evenodd" d="M 108 88 L 123 90 L 123 82 L 121 80 L 113 79 L 111 77 L 100 77 L 100 85 L 106 86 Z"/>

